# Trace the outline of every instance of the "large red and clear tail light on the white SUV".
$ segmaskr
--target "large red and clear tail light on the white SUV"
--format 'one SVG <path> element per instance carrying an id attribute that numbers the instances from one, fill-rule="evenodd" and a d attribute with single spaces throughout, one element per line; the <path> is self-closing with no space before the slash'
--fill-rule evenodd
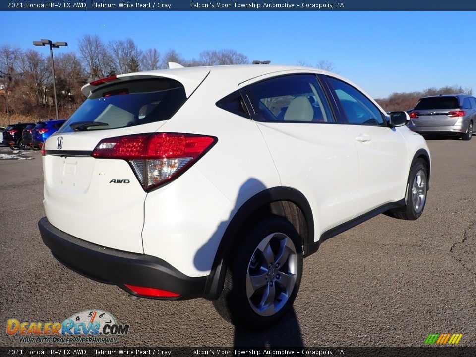
<path id="1" fill-rule="evenodd" d="M 145 191 L 176 179 L 217 142 L 213 136 L 149 133 L 101 140 L 92 156 L 126 160 Z"/>

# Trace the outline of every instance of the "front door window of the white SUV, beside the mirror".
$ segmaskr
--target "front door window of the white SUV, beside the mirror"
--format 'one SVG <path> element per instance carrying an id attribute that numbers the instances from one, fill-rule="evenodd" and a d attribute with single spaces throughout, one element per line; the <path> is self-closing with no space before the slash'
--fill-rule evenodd
<path id="1" fill-rule="evenodd" d="M 349 124 L 385 126 L 380 110 L 353 86 L 328 77 Z"/>

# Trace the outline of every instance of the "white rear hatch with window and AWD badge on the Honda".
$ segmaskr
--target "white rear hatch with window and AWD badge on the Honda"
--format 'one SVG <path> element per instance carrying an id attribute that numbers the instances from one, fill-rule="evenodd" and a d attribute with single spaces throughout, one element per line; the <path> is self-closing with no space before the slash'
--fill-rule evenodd
<path id="1" fill-rule="evenodd" d="M 207 73 L 204 69 L 195 88 Z M 74 237 L 143 253 L 146 191 L 137 173 L 126 160 L 92 153 L 104 139 L 157 131 L 195 88 L 185 90 L 178 80 L 150 74 L 94 84 L 87 86 L 88 99 L 45 142 L 46 215 L 53 226 Z"/>

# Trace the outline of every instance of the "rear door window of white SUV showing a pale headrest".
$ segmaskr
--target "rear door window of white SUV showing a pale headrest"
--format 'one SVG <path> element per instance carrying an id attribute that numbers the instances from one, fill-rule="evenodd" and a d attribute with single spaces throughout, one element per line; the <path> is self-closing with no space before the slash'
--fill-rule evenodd
<path id="1" fill-rule="evenodd" d="M 246 88 L 261 121 L 335 122 L 313 74 L 275 77 Z"/>

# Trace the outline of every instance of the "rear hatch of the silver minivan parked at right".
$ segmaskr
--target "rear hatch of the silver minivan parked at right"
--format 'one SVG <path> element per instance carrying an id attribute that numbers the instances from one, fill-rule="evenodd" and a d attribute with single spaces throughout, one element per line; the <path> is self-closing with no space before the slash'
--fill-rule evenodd
<path id="1" fill-rule="evenodd" d="M 457 97 L 427 97 L 418 101 L 410 118 L 415 126 L 453 126 L 461 113 Z"/>

